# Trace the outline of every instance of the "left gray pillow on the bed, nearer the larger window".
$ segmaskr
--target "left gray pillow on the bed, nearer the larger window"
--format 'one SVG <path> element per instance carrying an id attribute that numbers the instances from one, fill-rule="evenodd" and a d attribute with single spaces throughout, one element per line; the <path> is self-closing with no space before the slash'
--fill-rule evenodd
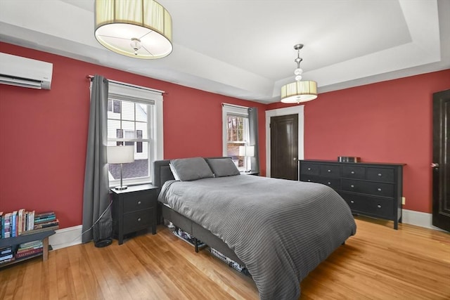
<path id="1" fill-rule="evenodd" d="M 203 157 L 171 159 L 170 164 L 178 174 L 180 181 L 195 181 L 201 178 L 214 177 Z"/>

